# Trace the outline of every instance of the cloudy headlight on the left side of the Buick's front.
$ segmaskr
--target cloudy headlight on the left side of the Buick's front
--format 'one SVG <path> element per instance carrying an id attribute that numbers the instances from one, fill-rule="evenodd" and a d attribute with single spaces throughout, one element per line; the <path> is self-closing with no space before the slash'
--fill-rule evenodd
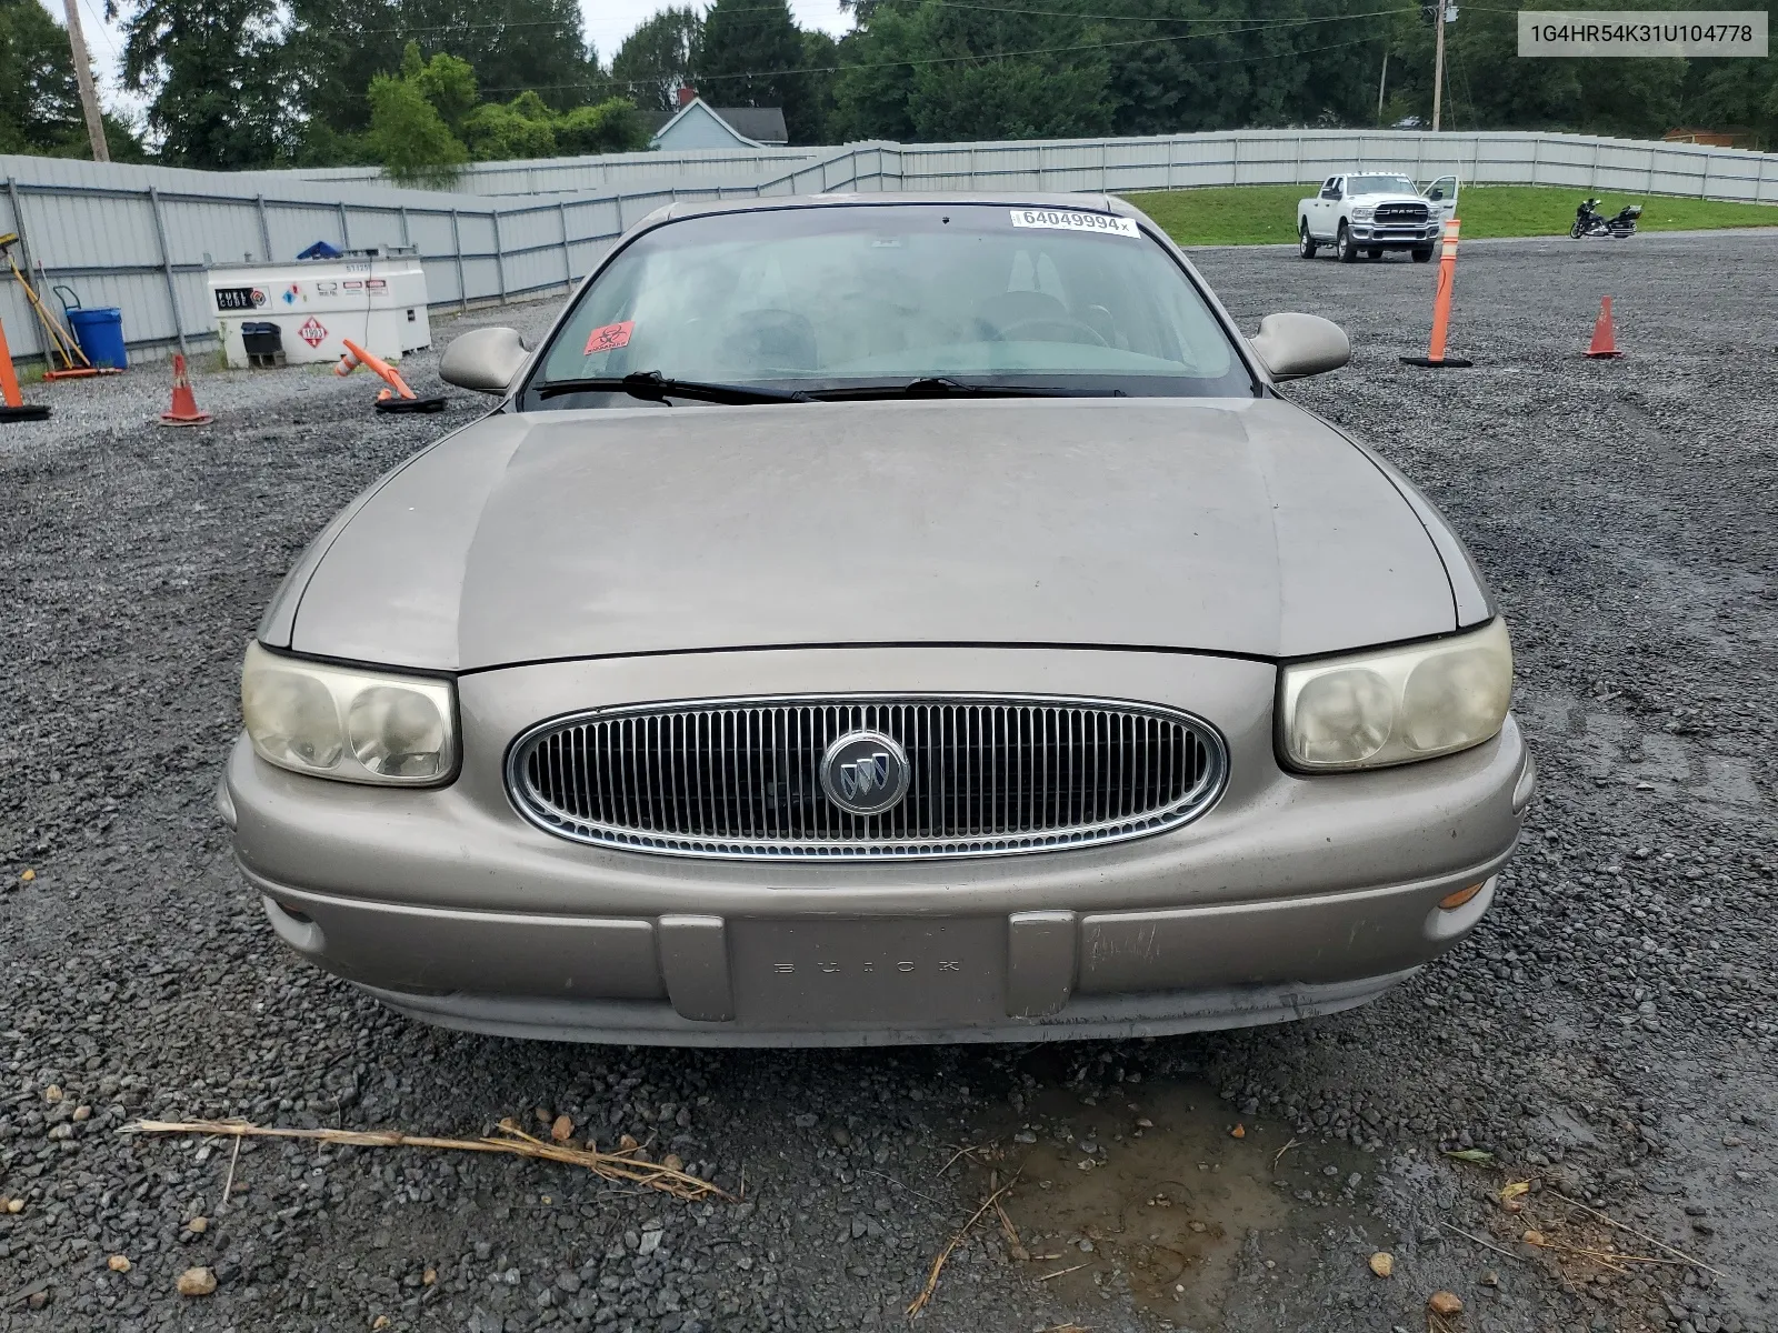
<path id="1" fill-rule="evenodd" d="M 379 675 L 247 645 L 240 711 L 254 754 L 340 782 L 427 784 L 457 766 L 448 681 Z"/>

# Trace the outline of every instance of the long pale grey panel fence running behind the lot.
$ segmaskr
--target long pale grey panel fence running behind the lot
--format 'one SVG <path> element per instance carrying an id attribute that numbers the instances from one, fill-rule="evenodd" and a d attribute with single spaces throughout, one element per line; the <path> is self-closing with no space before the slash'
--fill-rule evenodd
<path id="1" fill-rule="evenodd" d="M 676 199 L 1124 194 L 1358 169 L 1778 204 L 1773 153 L 1554 133 L 1248 130 L 482 164 L 452 190 L 398 188 L 368 169 L 229 174 L 0 156 L 0 233 L 21 235 L 14 252 L 52 309 L 55 284 L 85 306 L 119 306 L 132 355 L 156 355 L 213 341 L 210 265 L 288 261 L 316 240 L 416 245 L 432 306 L 466 309 L 569 288 L 626 227 Z M 0 290 L 0 318 L 14 355 L 41 355 L 36 320 L 11 281 Z"/>

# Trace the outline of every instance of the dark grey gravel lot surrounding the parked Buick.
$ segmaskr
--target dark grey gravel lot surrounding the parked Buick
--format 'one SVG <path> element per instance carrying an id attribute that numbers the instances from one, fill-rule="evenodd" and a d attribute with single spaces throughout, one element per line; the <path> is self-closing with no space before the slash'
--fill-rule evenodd
<path id="1" fill-rule="evenodd" d="M 725 1054 L 407 1024 L 286 958 L 210 796 L 286 565 L 478 407 L 377 419 L 364 379 L 208 371 L 217 425 L 158 430 L 162 366 L 37 387 L 55 418 L 0 432 L 0 1329 L 887 1326 L 1015 1171 L 926 1328 L 1421 1329 L 1444 1289 L 1451 1329 L 1778 1329 L 1778 236 L 1465 243 L 1453 352 L 1478 368 L 1444 373 L 1396 361 L 1424 350 L 1428 267 L 1198 258 L 1245 327 L 1346 323 L 1353 366 L 1296 396 L 1453 515 L 1513 620 L 1543 787 L 1469 944 L 1355 1013 L 1168 1042 Z M 1584 361 L 1606 293 L 1627 355 Z M 427 393 L 432 368 L 404 370 Z M 119 1134 L 557 1114 L 747 1201 Z M 1444 1152 L 1470 1148 L 1492 1159 Z M 1558 1193 L 1714 1273 L 1559 1249 L 1673 1260 Z M 176 1294 L 188 1267 L 217 1290 Z"/>

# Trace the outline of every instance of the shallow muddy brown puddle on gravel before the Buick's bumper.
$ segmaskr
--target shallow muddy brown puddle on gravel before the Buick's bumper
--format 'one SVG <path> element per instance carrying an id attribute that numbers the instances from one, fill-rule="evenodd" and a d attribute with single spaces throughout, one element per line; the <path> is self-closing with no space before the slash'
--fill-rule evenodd
<path id="1" fill-rule="evenodd" d="M 1296 1285 L 1330 1228 L 1369 1221 L 1376 1157 L 1296 1143 L 1200 1082 L 1037 1088 L 983 1129 L 999 1182 L 1017 1173 L 1005 1207 L 1029 1278 L 1070 1306 L 1127 1290 L 1157 1328 L 1216 1328 L 1252 1233 L 1253 1280 Z"/>

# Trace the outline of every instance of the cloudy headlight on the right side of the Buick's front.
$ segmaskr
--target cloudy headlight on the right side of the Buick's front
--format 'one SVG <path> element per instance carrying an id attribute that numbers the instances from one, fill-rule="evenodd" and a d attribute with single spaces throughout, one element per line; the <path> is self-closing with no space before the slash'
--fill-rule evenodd
<path id="1" fill-rule="evenodd" d="M 1325 771 L 1467 750 L 1501 730 L 1511 695 L 1501 619 L 1437 643 L 1298 663 L 1280 682 L 1284 759 Z"/>

